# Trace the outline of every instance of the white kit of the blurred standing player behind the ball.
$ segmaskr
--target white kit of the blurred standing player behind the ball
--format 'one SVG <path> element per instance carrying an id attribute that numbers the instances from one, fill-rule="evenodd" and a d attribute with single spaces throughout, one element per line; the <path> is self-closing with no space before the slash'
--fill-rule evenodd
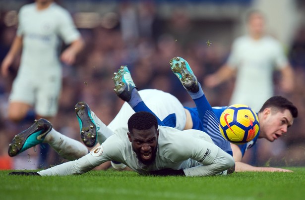
<path id="1" fill-rule="evenodd" d="M 253 40 L 238 38 L 232 47 L 228 65 L 237 69 L 235 88 L 230 104 L 243 103 L 256 112 L 273 96 L 273 71 L 288 64 L 280 43 L 265 36 Z"/>

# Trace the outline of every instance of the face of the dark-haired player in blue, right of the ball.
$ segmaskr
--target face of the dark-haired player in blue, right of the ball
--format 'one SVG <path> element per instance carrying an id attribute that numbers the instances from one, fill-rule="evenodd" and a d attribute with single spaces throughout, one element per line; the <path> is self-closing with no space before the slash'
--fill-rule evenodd
<path id="1" fill-rule="evenodd" d="M 270 110 L 270 112 L 268 112 L 267 110 L 266 114 L 264 114 L 264 122 L 261 126 L 264 138 L 273 142 L 287 133 L 287 129 L 292 126 L 293 121 L 294 118 L 288 109 L 283 112 L 279 110 Z"/>

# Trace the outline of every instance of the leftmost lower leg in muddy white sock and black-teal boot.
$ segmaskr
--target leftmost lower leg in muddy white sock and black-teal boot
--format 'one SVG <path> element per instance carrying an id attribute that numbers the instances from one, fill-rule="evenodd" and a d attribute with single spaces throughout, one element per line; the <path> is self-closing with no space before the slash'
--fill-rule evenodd
<path id="1" fill-rule="evenodd" d="M 42 143 L 48 143 L 63 158 L 68 160 L 78 159 L 89 152 L 80 142 L 57 132 L 48 120 L 39 119 L 13 138 L 9 144 L 8 155 L 15 156 Z"/>

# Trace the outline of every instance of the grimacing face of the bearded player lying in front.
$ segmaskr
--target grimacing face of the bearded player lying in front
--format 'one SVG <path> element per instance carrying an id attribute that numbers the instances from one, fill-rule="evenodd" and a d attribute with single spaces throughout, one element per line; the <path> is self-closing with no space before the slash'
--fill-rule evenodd
<path id="1" fill-rule="evenodd" d="M 132 133 L 128 133 L 132 149 L 143 164 L 149 165 L 155 161 L 158 137 L 159 130 L 156 130 L 155 127 L 147 130 L 133 129 Z"/>

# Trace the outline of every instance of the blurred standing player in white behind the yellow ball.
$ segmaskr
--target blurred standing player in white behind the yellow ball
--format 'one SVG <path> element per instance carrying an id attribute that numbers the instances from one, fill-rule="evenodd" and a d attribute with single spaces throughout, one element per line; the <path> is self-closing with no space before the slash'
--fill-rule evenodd
<path id="1" fill-rule="evenodd" d="M 227 63 L 207 76 L 204 85 L 216 87 L 236 77 L 229 104 L 244 103 L 258 112 L 263 103 L 273 96 L 273 71 L 281 72 L 281 89 L 291 93 L 294 73 L 281 44 L 265 33 L 265 18 L 258 10 L 247 16 L 248 35 L 237 38 Z"/>

